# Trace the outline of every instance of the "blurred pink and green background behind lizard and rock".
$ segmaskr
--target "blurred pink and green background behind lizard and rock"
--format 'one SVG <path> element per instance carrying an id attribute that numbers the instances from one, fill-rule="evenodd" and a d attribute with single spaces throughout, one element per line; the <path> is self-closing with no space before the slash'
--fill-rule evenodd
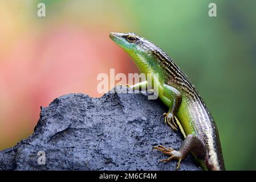
<path id="1" fill-rule="evenodd" d="M 46 5 L 46 17 L 37 5 Z M 210 2 L 217 17 L 208 16 Z M 0 150 L 32 134 L 40 106 L 100 97 L 99 73 L 136 73 L 109 32 L 164 49 L 196 85 L 220 132 L 226 168 L 256 169 L 256 1 L 0 0 Z"/>

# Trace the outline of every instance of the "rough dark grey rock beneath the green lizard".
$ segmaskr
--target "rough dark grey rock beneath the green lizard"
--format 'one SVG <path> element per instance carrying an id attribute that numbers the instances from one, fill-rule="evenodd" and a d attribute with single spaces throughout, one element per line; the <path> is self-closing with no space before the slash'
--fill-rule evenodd
<path id="1" fill-rule="evenodd" d="M 164 124 L 162 113 L 167 108 L 159 100 L 148 100 L 145 93 L 127 90 L 117 87 L 101 98 L 86 94 L 56 98 L 42 107 L 29 138 L 0 152 L 0 169 L 175 170 L 177 161 L 158 164 L 169 156 L 152 150 L 158 144 L 181 146 L 181 133 Z M 45 164 L 40 164 L 39 151 L 45 152 Z M 201 168 L 189 155 L 180 170 Z"/>

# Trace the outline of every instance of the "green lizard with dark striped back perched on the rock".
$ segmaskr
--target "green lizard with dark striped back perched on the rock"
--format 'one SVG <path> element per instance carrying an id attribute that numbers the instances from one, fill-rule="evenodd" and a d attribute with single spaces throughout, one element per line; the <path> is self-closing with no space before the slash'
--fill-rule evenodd
<path id="1" fill-rule="evenodd" d="M 160 100 L 169 107 L 168 113 L 164 113 L 164 121 L 175 131 L 179 127 L 185 135 L 180 150 L 154 147 L 170 155 L 160 162 L 177 159 L 178 169 L 181 161 L 192 152 L 202 169 L 225 170 L 216 123 L 188 77 L 162 49 L 149 40 L 133 33 L 111 33 L 109 37 L 132 57 L 140 72 L 158 73 L 157 78 L 152 78 L 156 84 L 151 86 L 153 89 L 158 86 Z M 143 81 L 129 87 L 146 88 L 147 84 L 151 83 Z"/>

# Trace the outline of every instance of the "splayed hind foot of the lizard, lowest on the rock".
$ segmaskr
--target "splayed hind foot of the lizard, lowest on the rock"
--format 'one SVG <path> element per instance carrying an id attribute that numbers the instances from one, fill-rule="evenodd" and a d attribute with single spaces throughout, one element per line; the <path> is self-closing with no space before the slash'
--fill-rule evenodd
<path id="1" fill-rule="evenodd" d="M 170 162 L 170 160 L 172 160 L 172 159 L 177 159 L 178 163 L 177 163 L 176 170 L 178 170 L 178 168 L 180 168 L 180 163 L 182 160 L 182 154 L 180 151 L 173 150 L 172 148 L 166 148 L 164 146 L 155 146 L 153 148 L 163 152 L 164 154 L 170 155 L 170 157 L 168 159 L 162 159 L 162 160 L 160 160 L 159 163 Z"/>

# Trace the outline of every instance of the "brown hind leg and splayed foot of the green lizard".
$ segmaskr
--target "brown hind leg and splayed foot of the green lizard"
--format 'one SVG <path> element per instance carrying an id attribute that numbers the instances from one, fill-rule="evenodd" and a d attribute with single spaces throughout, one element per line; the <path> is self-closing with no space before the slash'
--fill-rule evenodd
<path id="1" fill-rule="evenodd" d="M 199 159 L 204 159 L 207 154 L 207 150 L 204 143 L 202 143 L 202 141 L 198 137 L 192 134 L 186 136 L 185 140 L 182 143 L 182 146 L 180 147 L 180 150 L 176 151 L 173 150 L 172 148 L 166 148 L 161 145 L 155 146 L 153 148 L 163 152 L 164 154 L 170 155 L 168 159 L 160 160 L 160 163 L 169 162 L 172 159 L 177 159 L 178 163 L 176 170 L 180 168 L 181 161 L 185 159 L 186 156 L 188 156 L 189 152 L 193 152 L 193 154 L 196 155 L 196 157 Z"/>

